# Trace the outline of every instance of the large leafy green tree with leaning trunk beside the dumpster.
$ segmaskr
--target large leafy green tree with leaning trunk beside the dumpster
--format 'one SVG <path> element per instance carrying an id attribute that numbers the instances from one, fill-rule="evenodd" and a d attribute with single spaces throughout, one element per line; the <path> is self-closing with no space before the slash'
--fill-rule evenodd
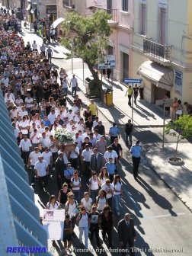
<path id="1" fill-rule="evenodd" d="M 63 22 L 62 44 L 87 63 L 100 91 L 101 81 L 94 66 L 98 59 L 104 59 L 103 50 L 107 49 L 107 38 L 112 32 L 107 22 L 110 18 L 110 14 L 102 10 L 95 11 L 91 17 L 72 12 Z"/>

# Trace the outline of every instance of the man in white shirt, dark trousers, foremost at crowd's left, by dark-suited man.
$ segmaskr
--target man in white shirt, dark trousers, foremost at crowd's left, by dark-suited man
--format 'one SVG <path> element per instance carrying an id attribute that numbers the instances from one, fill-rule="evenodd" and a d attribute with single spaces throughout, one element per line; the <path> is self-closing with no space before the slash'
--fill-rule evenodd
<path id="1" fill-rule="evenodd" d="M 39 156 L 38 162 L 35 164 L 36 178 L 39 180 L 40 192 L 44 192 L 47 186 L 47 176 L 49 174 L 48 165 L 43 160 L 43 156 Z"/>

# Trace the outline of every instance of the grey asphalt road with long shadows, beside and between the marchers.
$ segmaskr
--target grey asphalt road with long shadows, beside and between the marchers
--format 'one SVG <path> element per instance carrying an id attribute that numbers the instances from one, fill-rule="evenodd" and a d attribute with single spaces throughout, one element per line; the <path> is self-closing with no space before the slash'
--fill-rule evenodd
<path id="1" fill-rule="evenodd" d="M 24 40 L 32 42 L 37 40 L 35 35 L 24 35 Z M 71 69 L 70 59 L 68 61 L 61 59 L 54 59 L 54 65 L 62 66 L 66 70 Z M 74 69 L 81 68 L 82 62 L 80 60 L 75 62 Z M 88 102 L 81 92 L 78 93 L 80 98 Z M 106 130 L 109 130 L 110 123 L 106 118 L 99 114 L 103 120 Z M 136 129 L 133 134 L 133 140 L 140 139 L 144 149 L 150 149 L 152 143 L 159 144 L 162 142 L 162 129 Z M 140 166 L 140 179 L 135 181 L 132 175 L 131 158 L 128 149 L 124 144 L 123 137 L 120 139 L 123 146 L 123 160 L 120 163 L 119 174 L 123 179 L 123 197 L 120 202 L 120 218 L 123 218 L 124 213 L 131 213 L 135 220 L 136 226 L 136 255 L 173 255 L 173 256 L 190 256 L 192 253 L 192 215 L 183 203 L 176 197 L 172 191 L 166 187 L 164 182 L 149 167 Z M 50 180 L 49 184 L 50 194 L 56 194 L 56 183 Z M 84 187 L 85 190 L 85 187 Z M 48 201 L 48 194 L 43 194 L 38 197 L 37 190 L 36 202 L 37 206 L 42 212 L 42 206 Z M 117 222 L 113 233 L 114 248 L 118 248 L 117 240 Z M 78 228 L 75 228 L 78 235 Z M 78 238 L 74 238 L 73 246 L 79 248 Z M 94 245 L 95 246 L 95 245 Z M 107 246 L 101 246 L 101 253 L 94 251 L 91 245 L 88 255 L 110 255 L 107 251 Z M 61 254 L 63 249 L 61 242 L 56 242 L 52 245 L 49 242 L 50 251 L 53 255 Z M 120 252 L 113 252 L 113 255 L 120 255 Z M 72 255 L 82 255 L 82 253 L 73 251 Z"/>

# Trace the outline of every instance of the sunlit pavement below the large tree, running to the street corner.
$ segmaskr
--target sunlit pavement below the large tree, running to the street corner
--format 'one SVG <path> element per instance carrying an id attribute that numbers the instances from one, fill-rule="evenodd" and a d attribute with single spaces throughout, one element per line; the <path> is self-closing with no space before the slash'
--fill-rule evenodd
<path id="1" fill-rule="evenodd" d="M 85 86 L 82 82 L 82 69 L 75 69 L 74 73 L 79 79 L 79 88 L 85 93 Z M 71 74 L 71 71 L 69 71 L 68 74 Z M 85 69 L 85 78 L 88 76 L 91 76 L 91 72 L 89 69 Z M 103 88 L 113 89 L 114 105 L 111 107 L 106 107 L 99 101 L 97 101 L 97 104 L 99 110 L 101 110 L 102 114 L 104 114 L 110 123 L 116 122 L 119 125 L 124 125 L 127 123 L 128 119 L 131 119 L 133 110 L 133 123 L 135 126 L 139 126 L 141 128 L 163 126 L 163 111 L 160 109 L 160 107 L 155 106 L 155 104 L 149 104 L 145 100 L 140 101 L 138 97 L 138 107 L 133 105 L 132 109 L 128 105 L 128 97 L 125 97 L 126 85 L 122 85 L 117 81 L 108 82 L 104 77 L 103 83 Z M 165 123 L 168 123 L 168 120 L 169 119 L 166 119 Z"/>

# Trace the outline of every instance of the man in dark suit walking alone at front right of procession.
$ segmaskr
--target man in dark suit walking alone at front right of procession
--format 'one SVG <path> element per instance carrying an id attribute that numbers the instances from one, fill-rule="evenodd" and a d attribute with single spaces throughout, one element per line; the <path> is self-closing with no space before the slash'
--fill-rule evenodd
<path id="1" fill-rule="evenodd" d="M 136 231 L 134 229 L 134 221 L 130 216 L 130 213 L 126 213 L 124 219 L 121 219 L 117 227 L 118 238 L 122 249 L 126 249 L 128 243 L 130 247 L 130 256 L 134 256 L 134 241 L 136 240 Z M 126 252 L 122 251 L 122 256 L 125 256 Z"/>

